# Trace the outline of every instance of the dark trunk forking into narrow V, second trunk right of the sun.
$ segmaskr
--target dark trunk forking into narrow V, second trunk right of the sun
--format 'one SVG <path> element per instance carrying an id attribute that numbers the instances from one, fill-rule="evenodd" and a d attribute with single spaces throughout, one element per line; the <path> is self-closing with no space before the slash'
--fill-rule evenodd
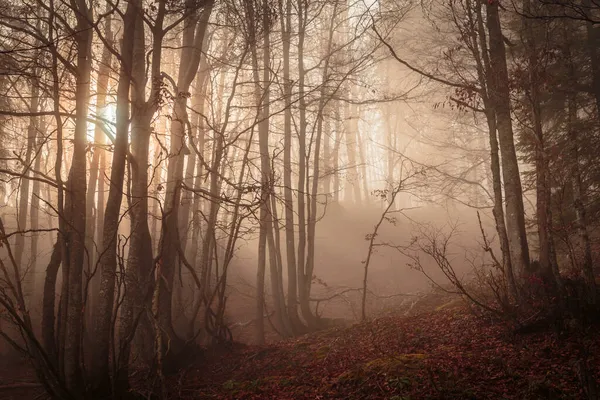
<path id="1" fill-rule="evenodd" d="M 139 12 L 139 11 L 138 11 Z M 161 2 L 155 27 L 162 27 L 165 5 Z M 131 236 L 119 329 L 118 385 L 127 386 L 130 359 L 148 366 L 153 358 L 153 331 L 151 316 L 151 290 L 154 286 L 152 237 L 148 225 L 149 152 L 152 134 L 152 117 L 159 98 L 163 33 L 153 30 L 151 88 L 146 100 L 145 29 L 142 18 L 135 19 L 132 60 L 132 110 L 131 110 Z M 131 355 L 134 355 L 131 357 Z"/>

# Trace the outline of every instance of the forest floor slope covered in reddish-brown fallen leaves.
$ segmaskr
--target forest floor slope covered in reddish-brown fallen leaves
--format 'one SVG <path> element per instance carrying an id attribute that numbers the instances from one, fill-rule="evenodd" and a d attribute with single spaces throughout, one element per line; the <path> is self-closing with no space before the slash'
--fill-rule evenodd
<path id="1" fill-rule="evenodd" d="M 181 399 L 585 399 L 600 335 L 516 335 L 466 308 L 238 346 L 170 380 Z"/>

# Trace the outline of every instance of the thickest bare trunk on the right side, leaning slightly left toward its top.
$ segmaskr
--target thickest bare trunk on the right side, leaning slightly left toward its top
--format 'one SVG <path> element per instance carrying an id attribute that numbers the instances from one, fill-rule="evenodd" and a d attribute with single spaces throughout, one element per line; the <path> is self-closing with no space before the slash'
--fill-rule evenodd
<path id="1" fill-rule="evenodd" d="M 521 283 L 529 269 L 529 247 L 525 231 L 523 190 L 514 134 L 511 121 L 510 90 L 506 49 L 500 26 L 498 0 L 486 4 L 487 29 L 489 34 L 490 64 L 494 68 L 491 76 L 490 98 L 496 109 L 498 141 L 502 154 L 502 176 L 506 199 L 506 230 L 515 279 Z"/>

